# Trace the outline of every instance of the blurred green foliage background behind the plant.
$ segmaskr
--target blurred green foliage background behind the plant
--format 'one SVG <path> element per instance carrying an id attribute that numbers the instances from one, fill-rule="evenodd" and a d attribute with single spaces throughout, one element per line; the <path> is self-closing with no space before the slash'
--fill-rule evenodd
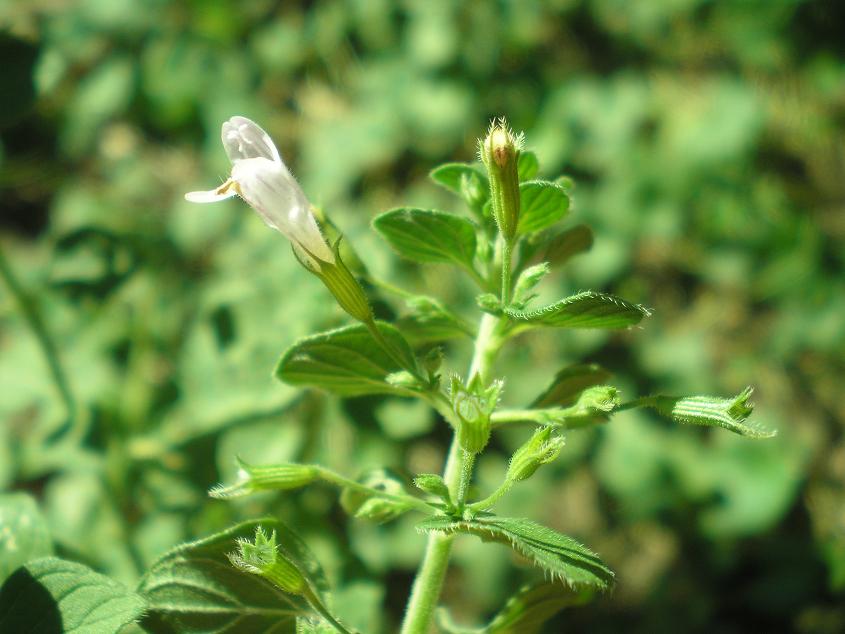
<path id="1" fill-rule="evenodd" d="M 341 616 L 393 631 L 424 543 L 412 518 L 347 520 L 321 488 L 205 492 L 236 454 L 439 470 L 445 425 L 274 382 L 298 336 L 348 320 L 246 205 L 182 195 L 221 182 L 220 124 L 251 117 L 371 270 L 469 315 L 470 286 L 394 258 L 368 223 L 460 211 L 427 173 L 471 160 L 504 114 L 541 175 L 575 179 L 567 222 L 596 234 L 549 295 L 654 309 L 621 335 L 524 335 L 498 366 L 506 403 L 586 359 L 625 396 L 753 384 L 780 432 L 635 412 L 571 433 L 502 512 L 578 537 L 619 583 L 547 631 L 845 631 L 843 24 L 833 0 L 4 3 L 0 487 L 38 499 L 60 555 L 126 583 L 272 513 L 318 553 Z M 448 368 L 468 352 L 450 344 Z M 480 490 L 525 433 L 495 438 Z M 471 539 L 454 562 L 444 600 L 466 623 L 536 577 Z"/>

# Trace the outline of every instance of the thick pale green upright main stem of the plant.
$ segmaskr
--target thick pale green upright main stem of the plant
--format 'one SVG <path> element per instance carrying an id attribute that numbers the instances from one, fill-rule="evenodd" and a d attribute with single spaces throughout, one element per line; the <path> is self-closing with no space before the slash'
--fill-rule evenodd
<path id="1" fill-rule="evenodd" d="M 477 374 L 482 381 L 489 382 L 490 370 L 501 346 L 501 339 L 496 334 L 498 322 L 498 318 L 494 315 L 485 314 L 481 318 L 467 381 Z M 443 471 L 443 480 L 449 487 L 452 499 L 456 500 L 459 498 L 462 482 L 466 483 L 464 487 L 468 485 L 472 466 L 470 465 L 468 470 L 465 468 L 462 459 L 463 451 L 458 442 L 459 422 L 455 420 L 454 413 L 447 408 L 438 408 L 438 411 L 444 414 L 455 430 Z M 401 634 L 428 634 L 434 610 L 440 598 L 443 580 L 446 577 L 446 569 L 449 567 L 454 539 L 454 535 L 438 532 L 429 535 L 422 564 L 411 588 Z"/>

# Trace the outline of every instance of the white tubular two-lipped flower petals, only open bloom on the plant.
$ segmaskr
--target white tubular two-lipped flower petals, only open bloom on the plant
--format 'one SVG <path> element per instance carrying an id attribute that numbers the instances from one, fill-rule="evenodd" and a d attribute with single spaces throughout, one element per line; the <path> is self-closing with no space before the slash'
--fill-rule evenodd
<path id="1" fill-rule="evenodd" d="M 318 260 L 334 264 L 334 253 L 317 226 L 311 205 L 270 135 L 246 117 L 232 117 L 223 123 L 221 137 L 232 161 L 231 176 L 217 189 L 189 192 L 185 199 L 213 203 L 238 195 L 291 241 L 309 268 L 319 270 Z"/>

